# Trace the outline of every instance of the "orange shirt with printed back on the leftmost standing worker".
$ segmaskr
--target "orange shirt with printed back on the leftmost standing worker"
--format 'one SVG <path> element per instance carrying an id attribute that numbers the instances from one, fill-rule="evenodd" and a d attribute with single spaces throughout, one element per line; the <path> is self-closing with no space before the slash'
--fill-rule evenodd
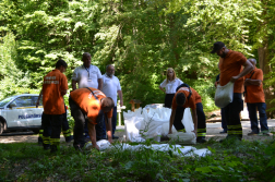
<path id="1" fill-rule="evenodd" d="M 52 70 L 44 77 L 43 106 L 46 114 L 62 114 L 64 100 L 61 90 L 68 89 L 68 81 L 59 70 Z"/>

